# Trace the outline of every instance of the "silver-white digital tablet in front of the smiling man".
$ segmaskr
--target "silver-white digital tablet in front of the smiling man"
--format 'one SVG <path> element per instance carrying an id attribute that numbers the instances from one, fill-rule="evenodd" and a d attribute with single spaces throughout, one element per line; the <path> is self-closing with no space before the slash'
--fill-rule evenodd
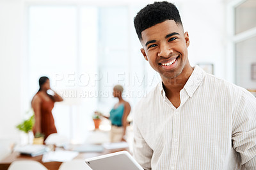
<path id="1" fill-rule="evenodd" d="M 86 158 L 85 162 L 93 170 L 143 170 L 128 151 L 118 151 L 99 157 Z"/>

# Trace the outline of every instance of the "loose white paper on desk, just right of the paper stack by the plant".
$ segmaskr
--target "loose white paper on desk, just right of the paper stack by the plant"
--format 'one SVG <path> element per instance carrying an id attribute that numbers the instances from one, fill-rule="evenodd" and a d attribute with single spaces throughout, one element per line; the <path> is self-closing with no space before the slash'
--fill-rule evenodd
<path id="1" fill-rule="evenodd" d="M 42 162 L 67 162 L 75 158 L 77 155 L 77 151 L 49 151 L 43 155 Z"/>

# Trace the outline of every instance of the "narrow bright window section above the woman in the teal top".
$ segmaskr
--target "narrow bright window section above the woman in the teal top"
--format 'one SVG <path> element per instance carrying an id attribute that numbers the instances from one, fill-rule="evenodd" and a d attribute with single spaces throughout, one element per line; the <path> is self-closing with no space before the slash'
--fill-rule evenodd
<path id="1" fill-rule="evenodd" d="M 129 72 L 129 27 L 128 8 L 99 8 L 99 83 L 101 104 L 115 104 L 112 97 L 113 86 L 122 84 L 118 77 Z M 122 84 L 125 85 L 125 84 Z M 111 102 L 109 102 L 111 101 Z M 109 108 L 110 109 L 110 108 Z"/>

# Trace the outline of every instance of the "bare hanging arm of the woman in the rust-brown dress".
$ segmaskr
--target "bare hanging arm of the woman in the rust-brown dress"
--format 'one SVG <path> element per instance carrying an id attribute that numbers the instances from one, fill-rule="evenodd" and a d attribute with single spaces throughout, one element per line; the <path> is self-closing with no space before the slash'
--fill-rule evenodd
<path id="1" fill-rule="evenodd" d="M 32 108 L 35 113 L 35 134 L 41 133 L 41 99 L 37 95 L 32 100 Z"/>

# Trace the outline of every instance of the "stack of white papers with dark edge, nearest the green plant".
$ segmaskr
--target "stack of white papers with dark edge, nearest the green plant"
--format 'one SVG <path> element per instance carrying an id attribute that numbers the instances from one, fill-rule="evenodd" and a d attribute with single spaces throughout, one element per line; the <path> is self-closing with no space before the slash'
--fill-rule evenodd
<path id="1" fill-rule="evenodd" d="M 38 155 L 43 155 L 45 152 L 49 151 L 49 148 L 41 144 L 30 144 L 26 146 L 18 146 L 17 148 L 15 148 L 15 151 L 18 151 L 24 155 L 36 157 Z"/>

